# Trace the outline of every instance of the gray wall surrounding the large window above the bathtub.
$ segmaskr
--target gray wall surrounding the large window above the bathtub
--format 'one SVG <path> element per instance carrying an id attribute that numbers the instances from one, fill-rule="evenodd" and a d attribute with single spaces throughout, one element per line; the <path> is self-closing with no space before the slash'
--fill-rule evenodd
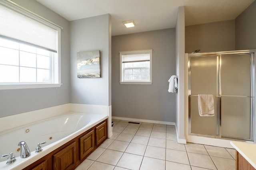
<path id="1" fill-rule="evenodd" d="M 12 0 L 16 4 L 63 27 L 61 30 L 60 88 L 0 90 L 0 117 L 69 103 L 70 23 L 35 0 Z"/>

